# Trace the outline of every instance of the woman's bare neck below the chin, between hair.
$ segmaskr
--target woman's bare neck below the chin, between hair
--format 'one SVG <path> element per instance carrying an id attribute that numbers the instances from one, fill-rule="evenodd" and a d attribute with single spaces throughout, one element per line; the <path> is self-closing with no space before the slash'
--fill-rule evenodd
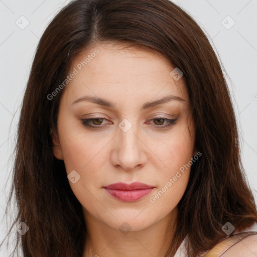
<path id="1" fill-rule="evenodd" d="M 177 207 L 143 230 L 126 232 L 99 222 L 85 210 L 84 213 L 88 238 L 83 257 L 135 257 L 135 253 L 141 257 L 164 257 L 174 238 Z"/>

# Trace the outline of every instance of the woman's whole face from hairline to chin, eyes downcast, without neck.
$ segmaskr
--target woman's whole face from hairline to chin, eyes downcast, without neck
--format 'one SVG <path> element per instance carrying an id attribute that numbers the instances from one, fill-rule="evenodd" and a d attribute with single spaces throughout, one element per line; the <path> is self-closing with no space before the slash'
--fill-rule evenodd
<path id="1" fill-rule="evenodd" d="M 73 60 L 54 155 L 86 221 L 137 231 L 176 209 L 196 150 L 186 85 L 174 68 L 160 54 L 107 43 Z M 133 182 L 150 187 L 107 187 Z"/>

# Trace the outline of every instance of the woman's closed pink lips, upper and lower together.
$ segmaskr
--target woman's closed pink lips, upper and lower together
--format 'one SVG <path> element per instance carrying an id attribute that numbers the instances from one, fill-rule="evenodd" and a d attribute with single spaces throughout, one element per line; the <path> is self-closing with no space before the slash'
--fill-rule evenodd
<path id="1" fill-rule="evenodd" d="M 150 194 L 155 188 L 141 182 L 132 184 L 114 183 L 103 187 L 111 197 L 122 202 L 136 202 Z"/>

